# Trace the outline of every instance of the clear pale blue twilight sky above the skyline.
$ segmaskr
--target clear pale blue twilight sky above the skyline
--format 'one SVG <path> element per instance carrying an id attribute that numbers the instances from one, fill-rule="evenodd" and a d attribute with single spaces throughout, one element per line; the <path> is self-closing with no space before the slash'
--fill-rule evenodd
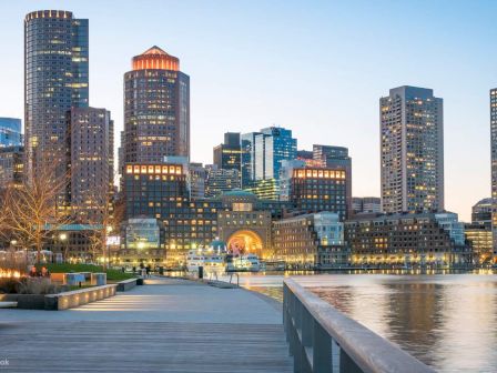
<path id="1" fill-rule="evenodd" d="M 379 195 L 378 99 L 398 85 L 444 99 L 446 209 L 469 220 L 490 194 L 491 0 L 1 1 L 0 117 L 23 118 L 23 18 L 90 19 L 90 104 L 122 129 L 123 74 L 156 44 L 191 77 L 192 161 L 226 131 L 293 130 L 298 149 L 345 145 L 354 195 Z"/>

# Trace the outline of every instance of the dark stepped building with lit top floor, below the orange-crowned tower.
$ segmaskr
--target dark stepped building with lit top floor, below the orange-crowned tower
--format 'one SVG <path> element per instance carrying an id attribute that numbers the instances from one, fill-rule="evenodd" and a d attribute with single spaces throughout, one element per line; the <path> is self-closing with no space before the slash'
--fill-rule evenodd
<path id="1" fill-rule="evenodd" d="M 180 161 L 125 164 L 124 195 L 126 219 L 156 219 L 164 225 L 166 265 L 184 265 L 189 250 L 217 235 L 221 201 L 191 200 L 187 170 Z"/>

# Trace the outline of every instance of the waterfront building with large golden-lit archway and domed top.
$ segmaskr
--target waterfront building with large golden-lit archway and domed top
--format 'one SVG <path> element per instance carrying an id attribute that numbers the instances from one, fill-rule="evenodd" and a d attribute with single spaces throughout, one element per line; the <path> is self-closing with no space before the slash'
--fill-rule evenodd
<path id="1" fill-rule="evenodd" d="M 219 238 L 226 242 L 227 251 L 234 254 L 252 253 L 261 259 L 272 258 L 271 211 L 261 210 L 256 195 L 242 190 L 224 193 L 221 202 Z"/>

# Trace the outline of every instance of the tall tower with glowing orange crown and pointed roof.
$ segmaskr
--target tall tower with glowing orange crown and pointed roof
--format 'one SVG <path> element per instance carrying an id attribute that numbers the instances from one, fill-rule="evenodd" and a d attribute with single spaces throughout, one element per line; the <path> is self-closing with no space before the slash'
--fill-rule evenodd
<path id="1" fill-rule="evenodd" d="M 133 57 L 124 74 L 124 163 L 190 158 L 190 77 L 158 47 Z"/>

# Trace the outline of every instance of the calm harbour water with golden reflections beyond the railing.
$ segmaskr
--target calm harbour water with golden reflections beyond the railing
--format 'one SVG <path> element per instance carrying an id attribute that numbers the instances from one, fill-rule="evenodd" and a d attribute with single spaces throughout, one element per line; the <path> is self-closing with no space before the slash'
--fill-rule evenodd
<path id="1" fill-rule="evenodd" d="M 352 319 L 440 372 L 497 372 L 497 275 L 293 276 Z M 283 275 L 241 284 L 282 299 Z"/>

